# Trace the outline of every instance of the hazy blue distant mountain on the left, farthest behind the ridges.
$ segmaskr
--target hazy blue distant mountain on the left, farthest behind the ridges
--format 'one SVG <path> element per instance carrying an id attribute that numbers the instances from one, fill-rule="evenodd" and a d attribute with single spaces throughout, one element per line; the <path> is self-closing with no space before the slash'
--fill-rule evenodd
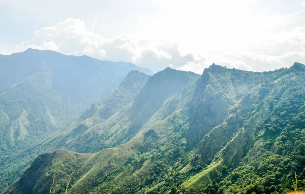
<path id="1" fill-rule="evenodd" d="M 92 103 L 108 97 L 132 70 L 152 74 L 132 63 L 66 56 L 48 50 L 27 49 L 1 55 L 1 182 L 6 176 L 4 164 L 12 161 L 14 154 L 65 128 Z M 139 79 L 145 80 L 146 76 Z M 8 183 L 1 183 L 0 190 L 7 186 Z"/>

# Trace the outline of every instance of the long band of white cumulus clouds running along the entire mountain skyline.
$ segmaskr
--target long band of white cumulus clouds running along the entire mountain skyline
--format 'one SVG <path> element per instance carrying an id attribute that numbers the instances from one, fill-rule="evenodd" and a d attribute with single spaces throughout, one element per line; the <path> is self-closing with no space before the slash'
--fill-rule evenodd
<path id="1" fill-rule="evenodd" d="M 49 49 L 68 55 L 88 55 L 102 60 L 128 61 L 148 67 L 154 72 L 170 66 L 202 73 L 203 69 L 212 63 L 246 70 L 266 71 L 290 66 L 293 62 L 305 62 L 305 27 L 303 26 L 274 34 L 269 41 L 264 42 L 254 51 L 232 50 L 228 53 L 222 48 L 211 49 L 211 52 L 205 52 L 202 57 L 202 54 L 186 52 L 185 48 L 180 48 L 175 42 L 136 39 L 127 34 L 105 38 L 93 31 L 94 26 L 97 25 L 97 22 L 93 22 L 87 27 L 80 19 L 68 18 L 53 26 L 35 31 L 34 38 L 16 47 L 19 51 L 27 48 Z M 202 45 L 202 47 L 205 51 L 208 50 L 207 46 Z M 217 46 L 214 46 L 215 48 Z"/>

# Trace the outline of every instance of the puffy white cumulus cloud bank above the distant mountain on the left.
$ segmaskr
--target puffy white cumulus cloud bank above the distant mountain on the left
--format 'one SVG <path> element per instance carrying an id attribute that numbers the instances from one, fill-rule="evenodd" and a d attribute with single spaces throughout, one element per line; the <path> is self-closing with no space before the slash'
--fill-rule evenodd
<path id="1" fill-rule="evenodd" d="M 96 25 L 96 23 L 94 23 Z M 17 46 L 55 50 L 69 55 L 88 55 L 103 60 L 129 61 L 159 71 L 204 61 L 193 54 L 182 55 L 174 43 L 135 40 L 128 35 L 105 38 L 89 29 L 84 21 L 68 18 L 64 22 L 35 31 L 35 37 Z"/>

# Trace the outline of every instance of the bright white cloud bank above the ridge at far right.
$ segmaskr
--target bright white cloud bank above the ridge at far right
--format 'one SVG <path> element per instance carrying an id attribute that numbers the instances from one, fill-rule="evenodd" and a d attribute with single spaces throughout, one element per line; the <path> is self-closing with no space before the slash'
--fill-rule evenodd
<path id="1" fill-rule="evenodd" d="M 221 55 L 215 63 L 254 71 L 289 67 L 294 62 L 305 63 L 305 27 L 296 26 L 274 34 L 260 51 L 231 52 Z"/>

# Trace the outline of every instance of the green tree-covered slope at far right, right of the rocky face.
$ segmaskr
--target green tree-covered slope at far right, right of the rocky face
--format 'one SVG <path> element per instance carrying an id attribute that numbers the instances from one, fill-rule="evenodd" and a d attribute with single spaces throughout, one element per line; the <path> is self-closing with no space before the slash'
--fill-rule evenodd
<path id="1" fill-rule="evenodd" d="M 302 179 L 305 66 L 295 63 L 273 76 L 266 74 L 269 80 L 236 103 L 225 122 L 205 135 L 192 165 L 208 166 L 182 186 L 204 192 L 212 183 L 210 187 L 218 184 L 224 193 L 284 193 L 290 190 L 294 172 Z M 219 177 L 224 180 L 211 181 Z"/>

